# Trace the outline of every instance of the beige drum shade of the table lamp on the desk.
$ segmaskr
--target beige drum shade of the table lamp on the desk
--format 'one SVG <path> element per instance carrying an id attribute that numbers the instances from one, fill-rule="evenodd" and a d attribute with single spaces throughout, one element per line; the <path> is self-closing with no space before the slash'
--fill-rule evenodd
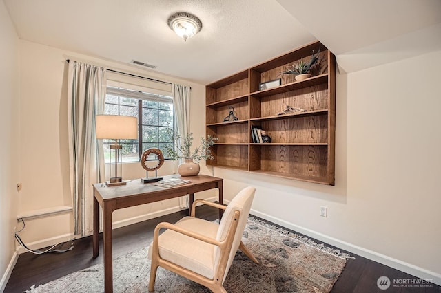
<path id="1" fill-rule="evenodd" d="M 96 138 L 129 140 L 138 138 L 138 118 L 134 116 L 97 115 Z"/>

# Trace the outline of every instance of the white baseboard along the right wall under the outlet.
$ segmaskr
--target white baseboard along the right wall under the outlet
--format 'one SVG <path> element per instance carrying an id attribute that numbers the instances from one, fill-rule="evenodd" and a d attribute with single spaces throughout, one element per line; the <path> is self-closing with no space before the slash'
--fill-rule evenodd
<path id="1" fill-rule="evenodd" d="M 314 230 L 303 228 L 302 226 L 291 224 L 283 219 L 278 219 L 277 217 L 273 217 L 265 213 L 260 213 L 257 210 L 251 210 L 250 213 L 252 213 L 252 215 L 255 215 L 256 217 L 260 217 L 262 219 L 266 219 L 267 221 L 271 221 L 274 224 L 278 224 L 285 228 L 307 235 L 308 237 L 328 243 L 331 246 L 336 246 L 341 250 L 346 250 L 348 252 L 352 252 L 353 254 L 358 254 L 360 255 L 360 257 L 365 257 L 367 259 L 370 259 L 371 261 L 382 263 L 383 265 L 387 265 L 396 270 L 400 270 L 401 272 L 411 274 L 412 276 L 416 276 L 420 279 L 424 279 L 424 280 L 429 279 L 431 283 L 434 283 L 436 285 L 441 285 L 441 274 L 438 274 L 436 272 L 431 272 L 424 268 L 420 268 L 416 265 L 412 265 L 410 263 L 405 263 L 404 261 L 400 261 L 399 259 L 393 259 L 392 257 L 388 257 L 387 255 L 380 254 L 378 252 L 374 252 L 372 250 L 368 250 L 366 248 L 362 248 L 360 246 L 347 243 L 345 241 L 341 241 L 334 237 L 329 237 L 328 235 L 324 235 Z"/>

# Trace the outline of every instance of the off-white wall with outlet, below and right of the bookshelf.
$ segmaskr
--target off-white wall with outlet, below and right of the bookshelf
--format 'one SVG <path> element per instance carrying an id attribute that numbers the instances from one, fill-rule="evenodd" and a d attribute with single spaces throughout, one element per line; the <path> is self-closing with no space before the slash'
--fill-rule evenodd
<path id="1" fill-rule="evenodd" d="M 440 68 L 434 52 L 338 75 L 335 186 L 214 175 L 257 186 L 256 215 L 441 283 Z"/>

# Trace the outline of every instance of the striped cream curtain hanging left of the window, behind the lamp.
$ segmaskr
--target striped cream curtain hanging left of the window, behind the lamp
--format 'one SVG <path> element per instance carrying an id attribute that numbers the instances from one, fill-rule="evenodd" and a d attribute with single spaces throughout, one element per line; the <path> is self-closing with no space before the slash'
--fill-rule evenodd
<path id="1" fill-rule="evenodd" d="M 103 67 L 70 61 L 68 127 L 75 235 L 92 234 L 92 184 L 105 181 L 103 146 L 95 133 L 95 116 L 104 111 L 105 86 Z"/>

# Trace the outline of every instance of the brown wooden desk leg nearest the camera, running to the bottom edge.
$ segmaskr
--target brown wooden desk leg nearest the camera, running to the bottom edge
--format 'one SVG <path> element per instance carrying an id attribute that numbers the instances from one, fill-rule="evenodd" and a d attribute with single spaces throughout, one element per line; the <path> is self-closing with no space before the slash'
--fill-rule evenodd
<path id="1" fill-rule="evenodd" d="M 112 268 L 112 212 L 113 209 L 104 203 L 103 206 L 103 246 L 104 246 L 104 291 L 113 292 L 113 268 Z"/>

